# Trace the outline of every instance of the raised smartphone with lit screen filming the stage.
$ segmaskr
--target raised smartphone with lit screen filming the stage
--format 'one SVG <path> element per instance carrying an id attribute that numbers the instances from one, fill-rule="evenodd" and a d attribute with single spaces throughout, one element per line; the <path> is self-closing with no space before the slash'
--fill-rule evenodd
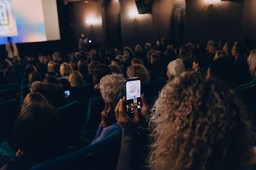
<path id="1" fill-rule="evenodd" d="M 141 110 L 141 81 L 140 78 L 127 78 L 124 81 L 125 98 L 126 98 L 126 112 L 129 117 L 133 116 L 133 106 Z"/>

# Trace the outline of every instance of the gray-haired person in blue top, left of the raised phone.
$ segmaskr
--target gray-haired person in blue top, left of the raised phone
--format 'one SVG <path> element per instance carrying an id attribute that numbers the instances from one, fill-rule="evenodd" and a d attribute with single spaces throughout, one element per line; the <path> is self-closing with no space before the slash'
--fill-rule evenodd
<path id="1" fill-rule="evenodd" d="M 122 74 L 108 74 L 99 83 L 100 93 L 105 101 L 105 109 L 101 112 L 99 129 L 92 143 L 105 138 L 115 131 L 121 131 L 120 125 L 116 124 L 115 108 L 119 99 L 124 96 L 124 76 Z"/>

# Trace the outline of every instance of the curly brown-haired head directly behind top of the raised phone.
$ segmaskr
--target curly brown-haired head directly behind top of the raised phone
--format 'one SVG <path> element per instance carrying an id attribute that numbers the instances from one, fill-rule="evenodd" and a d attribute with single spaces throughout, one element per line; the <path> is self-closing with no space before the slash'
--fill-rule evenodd
<path id="1" fill-rule="evenodd" d="M 134 64 L 127 68 L 127 76 L 129 78 L 138 77 L 141 83 L 147 83 L 150 81 L 150 74 L 145 66 L 141 64 Z"/>

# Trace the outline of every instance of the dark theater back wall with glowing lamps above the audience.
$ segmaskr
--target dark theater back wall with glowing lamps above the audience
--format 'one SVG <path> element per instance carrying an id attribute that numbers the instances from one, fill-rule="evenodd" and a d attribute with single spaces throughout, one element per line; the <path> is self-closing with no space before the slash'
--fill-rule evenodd
<path id="1" fill-rule="evenodd" d="M 63 3 L 68 1 L 68 3 Z M 18 44 L 20 56 L 39 52 L 76 51 L 81 32 L 92 39 L 92 48 L 144 45 L 157 39 L 169 38 L 174 0 L 154 0 L 152 14 L 132 18 L 134 0 L 57 0 L 61 40 Z M 74 2 L 71 2 L 74 1 Z M 176 0 L 179 1 L 179 0 Z M 102 24 L 86 24 L 93 15 Z M 221 1 L 210 6 L 205 0 L 186 0 L 186 19 L 183 43 L 198 43 L 226 39 L 236 41 L 246 36 L 256 40 L 256 1 Z M 1 57 L 6 56 L 4 45 Z"/>

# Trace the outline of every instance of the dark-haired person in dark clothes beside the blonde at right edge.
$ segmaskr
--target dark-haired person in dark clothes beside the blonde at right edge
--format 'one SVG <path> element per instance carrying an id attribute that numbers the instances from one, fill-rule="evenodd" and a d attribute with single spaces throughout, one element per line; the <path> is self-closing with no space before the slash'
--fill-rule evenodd
<path id="1" fill-rule="evenodd" d="M 234 85 L 242 85 L 252 80 L 246 59 L 247 48 L 242 41 L 236 41 L 232 48 L 234 60 Z"/>

